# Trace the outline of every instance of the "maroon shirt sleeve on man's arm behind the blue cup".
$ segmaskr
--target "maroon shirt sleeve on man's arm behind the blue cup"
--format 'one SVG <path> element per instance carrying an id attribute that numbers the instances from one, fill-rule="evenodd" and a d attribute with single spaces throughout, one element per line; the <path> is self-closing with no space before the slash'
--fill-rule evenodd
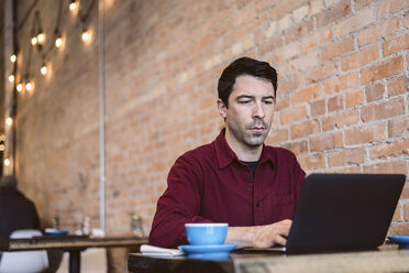
<path id="1" fill-rule="evenodd" d="M 200 217 L 203 175 L 195 159 L 180 156 L 170 168 L 167 188 L 157 201 L 150 243 L 162 248 L 187 244 L 185 223 L 211 222 Z"/>

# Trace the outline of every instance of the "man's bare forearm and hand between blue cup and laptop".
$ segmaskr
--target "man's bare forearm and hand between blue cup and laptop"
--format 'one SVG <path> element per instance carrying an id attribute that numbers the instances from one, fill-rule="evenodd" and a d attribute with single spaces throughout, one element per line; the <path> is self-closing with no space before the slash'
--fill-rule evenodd
<path id="1" fill-rule="evenodd" d="M 291 220 L 286 219 L 265 226 L 229 227 L 225 242 L 237 243 L 239 248 L 285 245 L 291 223 Z"/>

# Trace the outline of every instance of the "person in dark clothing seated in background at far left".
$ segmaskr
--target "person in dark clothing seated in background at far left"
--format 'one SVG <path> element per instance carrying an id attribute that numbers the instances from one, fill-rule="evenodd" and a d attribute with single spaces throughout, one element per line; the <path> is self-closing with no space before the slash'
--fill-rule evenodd
<path id="1" fill-rule="evenodd" d="M 13 176 L 0 181 L 0 238 L 8 239 L 18 229 L 40 229 L 34 204 L 16 188 Z"/>

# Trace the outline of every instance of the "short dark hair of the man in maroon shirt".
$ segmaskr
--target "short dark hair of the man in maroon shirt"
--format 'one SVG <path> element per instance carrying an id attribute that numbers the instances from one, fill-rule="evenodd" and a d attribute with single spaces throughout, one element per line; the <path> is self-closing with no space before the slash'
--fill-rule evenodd
<path id="1" fill-rule="evenodd" d="M 277 73 L 268 63 L 259 62 L 250 57 L 241 57 L 224 68 L 219 78 L 218 92 L 219 99 L 229 107 L 229 96 L 233 90 L 235 79 L 239 76 L 248 75 L 257 78 L 267 79 L 274 87 L 274 98 L 277 92 Z"/>

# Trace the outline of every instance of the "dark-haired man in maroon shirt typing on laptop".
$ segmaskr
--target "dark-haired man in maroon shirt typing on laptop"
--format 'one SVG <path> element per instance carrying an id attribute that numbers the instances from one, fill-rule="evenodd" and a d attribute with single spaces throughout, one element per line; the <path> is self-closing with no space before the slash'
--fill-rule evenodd
<path id="1" fill-rule="evenodd" d="M 305 172 L 290 151 L 264 144 L 276 90 L 277 74 L 268 63 L 243 57 L 223 70 L 218 110 L 225 129 L 175 162 L 151 244 L 186 244 L 187 222 L 228 222 L 225 242 L 239 247 L 286 243 Z"/>

